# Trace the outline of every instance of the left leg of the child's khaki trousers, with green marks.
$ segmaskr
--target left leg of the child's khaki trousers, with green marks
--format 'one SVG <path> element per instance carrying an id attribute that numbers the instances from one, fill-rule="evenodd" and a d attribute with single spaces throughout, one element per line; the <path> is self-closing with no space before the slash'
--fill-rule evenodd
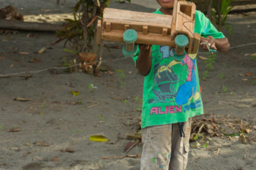
<path id="1" fill-rule="evenodd" d="M 171 156 L 172 124 L 142 129 L 141 170 L 168 170 Z"/>

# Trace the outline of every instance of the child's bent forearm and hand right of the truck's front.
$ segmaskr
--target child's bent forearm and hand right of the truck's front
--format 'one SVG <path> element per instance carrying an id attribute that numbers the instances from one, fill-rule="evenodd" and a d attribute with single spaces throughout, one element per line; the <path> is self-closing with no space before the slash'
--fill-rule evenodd
<path id="1" fill-rule="evenodd" d="M 206 42 L 211 49 L 221 52 L 225 52 L 230 48 L 230 44 L 226 37 L 216 39 L 214 39 L 212 36 L 208 36 L 206 38 L 202 37 L 200 43 L 201 42 Z M 202 44 L 201 47 L 207 50 L 206 44 Z"/>

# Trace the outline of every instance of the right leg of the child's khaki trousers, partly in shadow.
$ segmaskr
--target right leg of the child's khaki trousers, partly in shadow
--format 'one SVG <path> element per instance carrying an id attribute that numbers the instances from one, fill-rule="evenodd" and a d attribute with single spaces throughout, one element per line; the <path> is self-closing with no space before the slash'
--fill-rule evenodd
<path id="1" fill-rule="evenodd" d="M 172 125 L 172 156 L 169 163 L 169 170 L 186 170 L 191 132 L 191 118 L 184 122 L 183 125 L 185 137 L 180 137 L 180 129 L 177 123 Z"/>

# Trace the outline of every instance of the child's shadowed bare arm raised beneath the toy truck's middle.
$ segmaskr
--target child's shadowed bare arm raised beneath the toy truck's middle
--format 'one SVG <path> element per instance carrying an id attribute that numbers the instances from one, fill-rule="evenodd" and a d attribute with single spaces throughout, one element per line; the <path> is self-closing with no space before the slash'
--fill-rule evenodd
<path id="1" fill-rule="evenodd" d="M 138 73 L 146 76 L 151 69 L 151 46 L 146 44 L 140 44 L 140 53 L 136 61 L 136 68 Z"/>

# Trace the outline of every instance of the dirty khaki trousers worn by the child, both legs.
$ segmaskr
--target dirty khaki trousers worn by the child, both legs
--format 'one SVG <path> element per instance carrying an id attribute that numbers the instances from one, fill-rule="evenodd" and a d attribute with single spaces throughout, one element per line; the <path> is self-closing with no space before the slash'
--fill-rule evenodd
<path id="1" fill-rule="evenodd" d="M 191 118 L 184 123 L 143 128 L 140 170 L 185 170 L 190 131 Z"/>

